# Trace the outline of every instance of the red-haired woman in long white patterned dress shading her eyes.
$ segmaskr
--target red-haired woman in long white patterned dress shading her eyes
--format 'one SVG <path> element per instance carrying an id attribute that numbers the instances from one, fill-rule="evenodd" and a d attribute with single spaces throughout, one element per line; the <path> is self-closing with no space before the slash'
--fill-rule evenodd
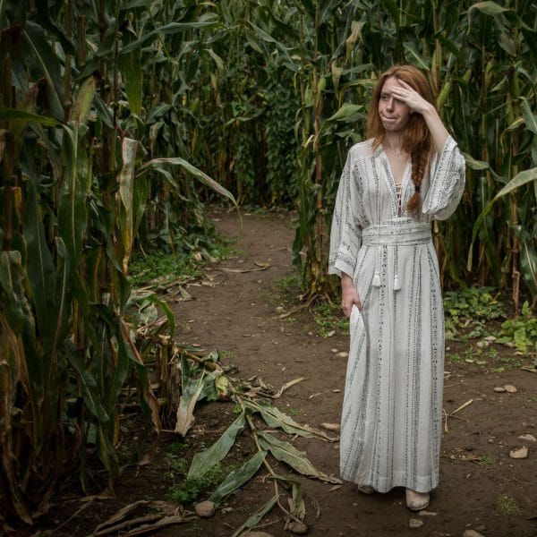
<path id="1" fill-rule="evenodd" d="M 444 318 L 433 218 L 449 217 L 465 159 L 412 65 L 383 73 L 368 140 L 349 151 L 337 191 L 329 272 L 341 276 L 351 346 L 341 475 L 359 490 L 405 487 L 413 510 L 439 482 Z"/>

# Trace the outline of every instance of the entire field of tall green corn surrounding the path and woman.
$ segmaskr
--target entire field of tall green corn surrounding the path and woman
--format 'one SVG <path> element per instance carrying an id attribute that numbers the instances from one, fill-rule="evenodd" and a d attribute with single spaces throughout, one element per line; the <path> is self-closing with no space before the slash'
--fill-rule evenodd
<path id="1" fill-rule="evenodd" d="M 204 207 L 296 209 L 309 301 L 379 72 L 422 68 L 467 161 L 434 237 L 445 286 L 537 303 L 531 0 L 0 1 L 0 525 L 34 524 L 95 447 L 112 491 L 122 389 L 162 408 L 132 252 L 189 251 Z"/>

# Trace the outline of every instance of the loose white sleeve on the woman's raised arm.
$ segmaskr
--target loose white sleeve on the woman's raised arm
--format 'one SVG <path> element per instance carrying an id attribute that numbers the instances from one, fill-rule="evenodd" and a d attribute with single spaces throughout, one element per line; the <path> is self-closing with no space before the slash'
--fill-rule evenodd
<path id="1" fill-rule="evenodd" d="M 465 158 L 456 141 L 448 136 L 441 154 L 431 163 L 429 190 L 422 212 L 436 220 L 450 217 L 463 197 L 465 180 Z"/>

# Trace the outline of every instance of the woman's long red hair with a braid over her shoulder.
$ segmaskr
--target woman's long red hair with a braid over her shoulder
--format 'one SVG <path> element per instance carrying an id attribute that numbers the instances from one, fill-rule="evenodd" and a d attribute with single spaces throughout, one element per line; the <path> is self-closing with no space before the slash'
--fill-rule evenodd
<path id="1" fill-rule="evenodd" d="M 373 149 L 379 148 L 379 145 L 386 137 L 386 131 L 379 116 L 379 100 L 384 83 L 391 77 L 405 81 L 422 98 L 429 101 L 433 107 L 436 107 L 430 84 L 419 69 L 413 65 L 394 65 L 390 67 L 388 71 L 380 75 L 375 90 L 373 90 L 369 114 L 367 116 L 367 137 L 374 139 Z M 430 155 L 433 149 L 432 136 L 421 114 L 410 115 L 405 132 L 403 133 L 402 149 L 412 159 L 412 181 L 418 189 L 406 204 L 406 209 L 415 215 L 422 209 L 422 198 L 418 191 L 422 184 L 425 170 L 429 166 Z"/>

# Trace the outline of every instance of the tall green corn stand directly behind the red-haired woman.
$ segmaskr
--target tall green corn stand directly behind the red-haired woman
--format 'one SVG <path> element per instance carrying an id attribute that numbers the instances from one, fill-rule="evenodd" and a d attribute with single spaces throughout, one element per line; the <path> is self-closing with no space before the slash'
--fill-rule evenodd
<path id="1" fill-rule="evenodd" d="M 346 149 L 363 135 L 362 107 L 372 84 L 389 65 L 410 63 L 428 74 L 440 113 L 468 164 L 460 208 L 446 223 L 435 223 L 444 283 L 510 288 L 516 311 L 521 292 L 529 291 L 535 302 L 533 4 L 359 0 L 288 5 L 300 17 L 289 21 L 292 28 L 277 54 L 282 64 L 286 50 L 293 54 L 291 69 L 302 100 L 295 124 L 302 150 L 294 258 L 302 268 L 306 296 L 330 291 L 326 224 Z"/>

